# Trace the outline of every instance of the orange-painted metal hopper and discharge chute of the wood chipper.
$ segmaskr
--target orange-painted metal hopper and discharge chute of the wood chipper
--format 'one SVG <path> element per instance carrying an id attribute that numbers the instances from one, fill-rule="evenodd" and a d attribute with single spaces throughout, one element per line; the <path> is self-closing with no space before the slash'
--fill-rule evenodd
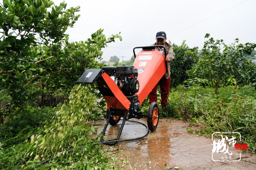
<path id="1" fill-rule="evenodd" d="M 138 96 L 141 105 L 162 76 L 168 73 L 168 67 L 164 55 L 157 50 L 140 51 L 135 58 L 133 66 L 138 69 L 139 92 L 135 95 Z M 130 101 L 116 86 L 112 78 L 106 73 L 101 76 L 113 93 L 113 95 L 103 95 L 108 107 L 129 110 Z"/>

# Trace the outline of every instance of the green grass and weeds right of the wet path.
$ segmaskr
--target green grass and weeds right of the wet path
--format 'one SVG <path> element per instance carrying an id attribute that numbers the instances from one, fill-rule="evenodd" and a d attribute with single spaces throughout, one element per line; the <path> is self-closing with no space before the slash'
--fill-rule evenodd
<path id="1" fill-rule="evenodd" d="M 239 132 L 241 142 L 256 152 L 256 90 L 253 87 L 234 90 L 234 86 L 228 86 L 220 88 L 216 95 L 211 87 L 180 86 L 170 93 L 165 114 L 201 125 L 196 133 L 206 136 L 213 132 Z"/>

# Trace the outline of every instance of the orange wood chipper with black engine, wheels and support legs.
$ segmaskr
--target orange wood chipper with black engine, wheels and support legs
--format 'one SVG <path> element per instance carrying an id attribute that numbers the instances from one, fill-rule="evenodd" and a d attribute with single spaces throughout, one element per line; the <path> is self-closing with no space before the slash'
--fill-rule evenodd
<path id="1" fill-rule="evenodd" d="M 135 61 L 133 66 L 107 66 L 102 69 L 86 69 L 77 83 L 93 83 L 96 81 L 97 88 L 103 95 L 107 107 L 107 122 L 103 129 L 105 134 L 108 124 L 116 125 L 123 117 L 117 139 L 107 145 L 115 145 L 123 130 L 126 120 L 131 118 L 141 119 L 141 104 L 156 86 L 165 73 L 168 73 L 166 56 L 161 54 L 156 47 L 164 46 L 143 46 L 135 47 L 133 54 Z M 135 49 L 142 50 L 135 55 Z M 150 104 L 147 114 L 147 124 L 150 131 L 154 131 L 158 125 L 158 105 Z M 104 141 L 104 139 L 100 139 Z"/>

